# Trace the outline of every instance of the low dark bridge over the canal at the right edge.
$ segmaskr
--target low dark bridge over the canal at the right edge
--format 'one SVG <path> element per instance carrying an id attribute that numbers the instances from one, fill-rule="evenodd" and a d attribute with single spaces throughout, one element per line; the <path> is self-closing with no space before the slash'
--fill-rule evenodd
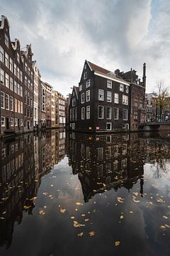
<path id="1" fill-rule="evenodd" d="M 156 121 L 156 122 L 145 122 L 145 124 L 140 124 L 139 129 L 141 131 L 163 131 L 170 130 L 170 121 Z"/>

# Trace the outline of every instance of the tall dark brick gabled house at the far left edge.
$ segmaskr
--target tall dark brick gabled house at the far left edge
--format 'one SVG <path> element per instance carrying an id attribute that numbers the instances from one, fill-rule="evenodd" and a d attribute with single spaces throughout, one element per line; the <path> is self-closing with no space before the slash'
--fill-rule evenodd
<path id="1" fill-rule="evenodd" d="M 23 63 L 20 43 L 11 41 L 9 23 L 0 21 L 1 127 L 4 134 L 23 132 Z"/>

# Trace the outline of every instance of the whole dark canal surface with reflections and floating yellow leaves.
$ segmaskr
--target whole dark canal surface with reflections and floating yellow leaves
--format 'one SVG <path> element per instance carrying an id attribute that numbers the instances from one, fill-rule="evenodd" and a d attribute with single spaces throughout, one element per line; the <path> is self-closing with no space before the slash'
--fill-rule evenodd
<path id="1" fill-rule="evenodd" d="M 170 255 L 169 134 L 0 145 L 0 255 Z"/>

